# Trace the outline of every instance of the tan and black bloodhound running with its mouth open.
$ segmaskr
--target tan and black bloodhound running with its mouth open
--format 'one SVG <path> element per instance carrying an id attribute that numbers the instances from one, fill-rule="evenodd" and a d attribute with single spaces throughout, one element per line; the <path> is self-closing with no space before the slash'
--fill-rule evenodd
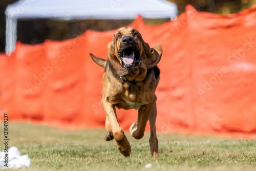
<path id="1" fill-rule="evenodd" d="M 115 139 L 120 153 L 125 157 L 130 156 L 131 146 L 118 123 L 116 108 L 136 109 L 138 119 L 130 127 L 130 133 L 135 139 L 141 139 L 148 120 L 151 154 L 157 157 L 155 90 L 160 79 L 157 64 L 162 56 L 161 45 L 150 48 L 138 30 L 123 27 L 114 34 L 108 45 L 108 59 L 90 55 L 105 70 L 101 100 L 106 115 L 105 140 Z"/>

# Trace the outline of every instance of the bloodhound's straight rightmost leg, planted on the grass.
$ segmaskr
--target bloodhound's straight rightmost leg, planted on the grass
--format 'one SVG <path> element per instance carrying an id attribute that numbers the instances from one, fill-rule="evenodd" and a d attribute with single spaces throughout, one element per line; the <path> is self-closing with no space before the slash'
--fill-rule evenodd
<path id="1" fill-rule="evenodd" d="M 151 155 L 154 157 L 158 157 L 156 118 L 157 118 L 157 106 L 156 106 L 156 103 L 154 103 L 151 107 L 150 116 L 148 117 L 148 121 L 150 122 L 150 151 L 151 151 Z"/>

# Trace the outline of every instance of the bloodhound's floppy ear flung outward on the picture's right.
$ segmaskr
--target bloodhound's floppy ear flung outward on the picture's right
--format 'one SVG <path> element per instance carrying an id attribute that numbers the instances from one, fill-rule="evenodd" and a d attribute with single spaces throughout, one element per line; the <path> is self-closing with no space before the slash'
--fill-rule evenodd
<path id="1" fill-rule="evenodd" d="M 150 69 L 157 66 L 157 63 L 160 61 L 162 57 L 162 53 L 163 53 L 162 46 L 157 45 L 153 48 L 150 48 L 150 46 L 143 39 L 142 39 L 142 45 L 144 47 L 145 54 L 146 54 L 146 68 Z"/>

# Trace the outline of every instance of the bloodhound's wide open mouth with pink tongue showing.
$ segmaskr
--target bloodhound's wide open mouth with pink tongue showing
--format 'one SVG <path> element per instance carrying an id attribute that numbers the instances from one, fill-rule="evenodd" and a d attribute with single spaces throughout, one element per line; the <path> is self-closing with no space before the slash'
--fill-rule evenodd
<path id="1" fill-rule="evenodd" d="M 137 68 L 140 66 L 140 55 L 137 47 L 120 48 L 118 54 L 125 68 Z"/>

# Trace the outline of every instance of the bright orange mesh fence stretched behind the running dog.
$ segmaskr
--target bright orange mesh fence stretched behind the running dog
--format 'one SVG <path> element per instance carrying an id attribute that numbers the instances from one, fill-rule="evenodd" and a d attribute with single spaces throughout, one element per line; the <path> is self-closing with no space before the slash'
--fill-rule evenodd
<path id="1" fill-rule="evenodd" d="M 220 16 L 187 6 L 174 21 L 149 26 L 138 17 L 131 24 L 151 47 L 163 47 L 159 132 L 256 138 L 254 18 L 256 8 Z M 89 53 L 106 58 L 115 31 L 89 30 L 35 46 L 17 42 L 14 53 L 0 55 L 1 115 L 66 129 L 103 128 L 104 71 Z M 137 119 L 136 110 L 117 115 L 125 130 Z"/>

